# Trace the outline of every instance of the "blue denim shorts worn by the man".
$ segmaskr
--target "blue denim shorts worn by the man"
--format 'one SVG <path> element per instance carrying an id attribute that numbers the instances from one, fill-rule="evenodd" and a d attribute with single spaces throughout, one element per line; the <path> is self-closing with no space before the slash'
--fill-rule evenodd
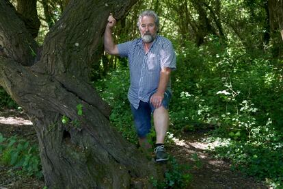
<path id="1" fill-rule="evenodd" d="M 167 110 L 169 108 L 168 105 L 171 96 L 172 93 L 169 90 L 166 90 L 161 105 Z M 151 113 L 154 112 L 155 108 L 153 107 L 152 103 L 150 103 L 150 101 L 148 102 L 139 101 L 139 108 L 135 109 L 133 105 L 131 105 L 131 110 L 135 123 L 135 129 L 137 131 L 137 136 L 139 136 L 139 138 L 146 137 L 146 135 L 150 133 Z"/>

